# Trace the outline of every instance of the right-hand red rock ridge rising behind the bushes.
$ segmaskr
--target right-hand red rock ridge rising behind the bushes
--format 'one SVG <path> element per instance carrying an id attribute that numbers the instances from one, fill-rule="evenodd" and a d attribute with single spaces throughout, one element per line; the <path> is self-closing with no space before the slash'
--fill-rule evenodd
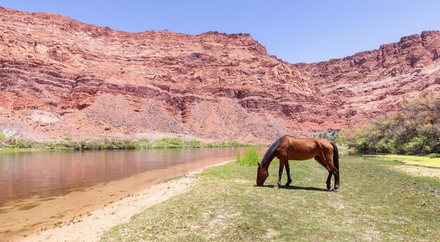
<path id="1" fill-rule="evenodd" d="M 440 94 L 440 32 L 402 37 L 380 49 L 297 64 L 321 93 L 343 103 L 348 123 L 397 110 L 417 96 Z"/>

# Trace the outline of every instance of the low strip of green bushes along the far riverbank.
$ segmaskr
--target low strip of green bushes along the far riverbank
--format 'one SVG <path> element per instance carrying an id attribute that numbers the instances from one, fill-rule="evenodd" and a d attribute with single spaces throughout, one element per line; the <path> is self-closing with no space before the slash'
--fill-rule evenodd
<path id="1" fill-rule="evenodd" d="M 110 149 L 147 149 L 147 148 L 212 148 L 264 146 L 242 144 L 240 141 L 203 142 L 198 139 L 183 141 L 179 138 L 164 137 L 150 142 L 148 139 L 89 139 L 72 140 L 66 136 L 61 141 L 36 142 L 31 139 L 18 139 L 0 133 L 0 151 L 36 150 L 110 150 Z"/>

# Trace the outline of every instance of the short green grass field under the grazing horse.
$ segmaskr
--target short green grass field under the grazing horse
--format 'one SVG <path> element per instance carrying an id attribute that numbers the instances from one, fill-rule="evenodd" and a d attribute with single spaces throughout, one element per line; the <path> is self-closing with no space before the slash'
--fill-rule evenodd
<path id="1" fill-rule="evenodd" d="M 198 175 L 195 188 L 113 228 L 103 241 L 436 241 L 440 180 L 392 169 L 382 157 L 340 161 L 341 187 L 327 171 L 291 161 L 292 187 L 254 186 L 257 167 L 229 163 Z M 434 168 L 432 168 L 434 169 Z M 283 175 L 283 184 L 286 176 Z"/>

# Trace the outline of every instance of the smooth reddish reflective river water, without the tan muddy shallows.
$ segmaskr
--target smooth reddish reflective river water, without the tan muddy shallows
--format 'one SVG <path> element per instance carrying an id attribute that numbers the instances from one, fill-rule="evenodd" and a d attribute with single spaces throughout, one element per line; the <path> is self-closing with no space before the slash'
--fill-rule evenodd
<path id="1" fill-rule="evenodd" d="M 165 168 L 178 164 L 206 160 L 212 165 L 235 159 L 237 152 L 238 148 L 4 152 L 0 153 L 0 207 L 34 196 L 62 196 L 146 171 L 167 172 Z M 191 170 L 183 167 L 179 167 L 182 172 Z"/>

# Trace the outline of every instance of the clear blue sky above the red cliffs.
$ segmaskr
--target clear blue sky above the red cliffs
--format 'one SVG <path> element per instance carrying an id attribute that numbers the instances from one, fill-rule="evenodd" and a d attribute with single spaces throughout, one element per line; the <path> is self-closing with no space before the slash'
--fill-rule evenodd
<path id="1" fill-rule="evenodd" d="M 440 30 L 440 1 L 35 1 L 0 6 L 52 12 L 114 30 L 249 33 L 291 63 L 342 58 Z"/>

